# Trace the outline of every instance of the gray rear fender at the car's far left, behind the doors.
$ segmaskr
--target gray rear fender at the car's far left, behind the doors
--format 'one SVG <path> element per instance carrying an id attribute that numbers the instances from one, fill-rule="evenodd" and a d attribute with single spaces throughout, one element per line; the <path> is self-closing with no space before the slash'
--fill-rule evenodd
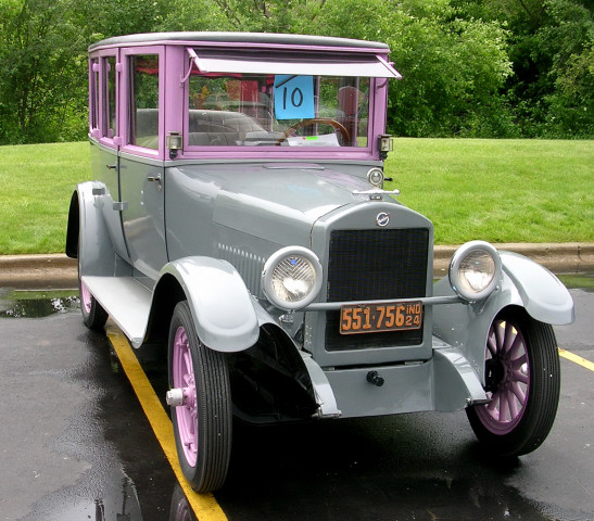
<path id="1" fill-rule="evenodd" d="M 113 276 L 115 252 L 103 219 L 102 200 L 93 190 L 101 193 L 104 187 L 98 181 L 87 181 L 73 193 L 66 253 L 69 257 L 78 256 L 80 275 Z"/>

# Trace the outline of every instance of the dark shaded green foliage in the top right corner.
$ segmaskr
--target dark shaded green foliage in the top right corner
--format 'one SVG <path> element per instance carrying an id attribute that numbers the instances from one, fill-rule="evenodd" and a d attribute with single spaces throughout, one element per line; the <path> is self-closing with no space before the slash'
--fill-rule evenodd
<path id="1" fill-rule="evenodd" d="M 460 0 L 465 16 L 505 23 L 508 100 L 522 136 L 594 136 L 594 11 L 590 0 Z"/>

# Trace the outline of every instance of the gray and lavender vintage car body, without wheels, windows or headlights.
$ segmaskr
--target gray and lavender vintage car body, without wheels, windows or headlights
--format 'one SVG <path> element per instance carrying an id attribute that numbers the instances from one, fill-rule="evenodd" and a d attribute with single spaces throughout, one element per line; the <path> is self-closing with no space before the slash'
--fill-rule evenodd
<path id="1" fill-rule="evenodd" d="M 163 78 L 162 90 L 175 93 L 192 67 L 190 62 L 189 71 L 184 68 L 186 47 L 217 48 L 225 42 L 238 49 L 240 43 L 258 49 L 270 45 L 280 52 L 301 52 L 305 59 L 315 46 L 326 56 L 329 49 L 332 56 L 366 53 L 377 58 L 376 71 L 390 69 L 383 45 L 292 35 L 137 35 L 104 40 L 91 48 L 91 58 L 115 56 L 119 47 L 151 45 L 151 52 L 168 56 L 167 67 L 175 74 Z M 125 68 L 118 65 L 115 71 L 121 73 Z M 90 78 L 99 69 L 91 63 Z M 375 138 L 382 138 L 387 82 L 374 85 L 370 128 Z M 102 96 L 106 94 L 97 100 Z M 368 170 L 383 166 L 379 140 L 367 142 L 368 152 L 309 149 L 299 161 L 300 154 L 286 154 L 280 147 L 262 153 L 258 148 L 219 153 L 213 147 L 204 156 L 189 147 L 177 158 L 175 150 L 166 151 L 165 126 L 182 129 L 180 100 L 162 94 L 166 111 L 160 113 L 160 144 L 152 155 L 136 154 L 125 137 L 102 136 L 91 124 L 94 180 L 78 185 L 71 201 L 66 253 L 78 258 L 81 282 L 135 347 L 166 343 L 174 306 L 186 300 L 206 348 L 226 353 L 231 365 L 245 354 L 271 368 L 275 378 L 266 383 L 274 383 L 273 392 L 283 399 L 300 401 L 302 417 L 451 411 L 486 401 L 485 344 L 502 309 L 521 307 L 547 323 L 573 320 L 571 297 L 558 279 L 506 252 L 500 253 L 503 269 L 494 291 L 479 302 L 460 298 L 447 278 L 433 284 L 432 224 L 381 190 L 361 193 L 374 188 Z M 121 111 L 124 124 L 126 114 Z M 378 229 L 426 230 L 422 294 L 407 298 L 424 305 L 421 335 L 414 345 L 329 350 L 325 312 L 343 304 L 326 302 L 329 237 L 334 230 Z M 262 288 L 266 260 L 287 246 L 311 250 L 323 267 L 323 291 L 293 312 L 271 304 Z M 388 260 L 399 267 L 399 258 Z M 404 280 L 406 274 L 401 277 Z M 274 348 L 267 352 L 270 345 Z M 371 384 L 371 373 L 383 384 Z M 251 377 L 257 376 L 256 371 Z M 279 390 L 283 385 L 285 394 Z M 280 412 L 267 420 L 285 419 Z"/>

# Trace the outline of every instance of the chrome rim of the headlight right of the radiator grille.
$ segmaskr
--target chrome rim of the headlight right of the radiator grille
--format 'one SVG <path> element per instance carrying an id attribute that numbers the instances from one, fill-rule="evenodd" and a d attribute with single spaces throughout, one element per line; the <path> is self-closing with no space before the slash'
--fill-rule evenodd
<path id="1" fill-rule="evenodd" d="M 480 290 L 471 290 L 465 282 L 464 263 L 471 256 L 486 254 L 493 263 L 493 275 L 489 282 Z M 477 302 L 486 298 L 501 281 L 502 260 L 495 246 L 485 241 L 470 241 L 456 250 L 450 262 L 450 284 L 458 296 L 468 302 Z"/>

